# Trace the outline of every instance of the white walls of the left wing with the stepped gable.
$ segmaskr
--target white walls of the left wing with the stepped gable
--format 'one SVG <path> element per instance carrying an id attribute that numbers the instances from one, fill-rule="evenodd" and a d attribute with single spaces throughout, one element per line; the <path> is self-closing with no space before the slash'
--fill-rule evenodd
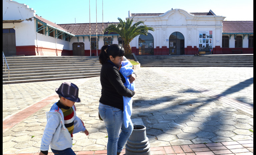
<path id="1" fill-rule="evenodd" d="M 70 46 L 68 41 L 37 33 L 35 13 L 36 11 L 26 4 L 3 0 L 3 21 L 23 20 L 19 23 L 17 21 L 3 23 L 3 29 L 13 28 L 15 30 L 16 47 L 36 46 L 46 49 L 72 50 L 72 44 Z M 51 55 L 51 53 L 46 52 L 45 55 Z"/>

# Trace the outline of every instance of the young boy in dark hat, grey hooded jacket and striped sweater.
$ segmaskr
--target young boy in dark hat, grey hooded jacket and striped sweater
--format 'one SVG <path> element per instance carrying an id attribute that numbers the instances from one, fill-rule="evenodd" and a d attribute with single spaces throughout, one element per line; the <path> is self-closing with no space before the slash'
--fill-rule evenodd
<path id="1" fill-rule="evenodd" d="M 54 154 L 75 155 L 71 149 L 73 134 L 83 131 L 89 135 L 82 120 L 76 116 L 74 104 L 80 102 L 78 87 L 74 83 L 64 82 L 55 91 L 59 94 L 60 100 L 46 112 L 47 124 L 39 155 L 47 155 L 49 145 Z"/>

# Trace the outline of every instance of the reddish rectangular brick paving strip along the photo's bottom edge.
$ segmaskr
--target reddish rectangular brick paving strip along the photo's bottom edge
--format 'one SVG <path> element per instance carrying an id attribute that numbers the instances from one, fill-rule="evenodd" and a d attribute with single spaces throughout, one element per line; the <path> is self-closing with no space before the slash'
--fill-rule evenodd
<path id="1" fill-rule="evenodd" d="M 107 150 L 99 151 L 78 151 L 77 155 L 107 155 Z M 38 155 L 39 153 L 22 153 L 11 155 Z M 242 140 L 232 142 L 219 142 L 208 144 L 192 144 L 180 146 L 151 147 L 151 155 L 253 155 L 253 141 Z M 7 154 L 3 154 L 7 155 Z M 10 154 L 8 154 L 10 155 Z M 48 155 L 53 155 L 49 152 Z M 125 155 L 125 149 L 121 155 Z"/>

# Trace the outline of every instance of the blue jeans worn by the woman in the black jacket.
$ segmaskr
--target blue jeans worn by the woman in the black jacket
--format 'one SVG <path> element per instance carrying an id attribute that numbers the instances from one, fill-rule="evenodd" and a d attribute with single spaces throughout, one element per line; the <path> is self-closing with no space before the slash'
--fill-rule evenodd
<path id="1" fill-rule="evenodd" d="M 116 155 L 117 152 L 122 151 L 124 144 L 132 134 L 133 124 L 130 121 L 128 128 L 125 128 L 123 110 L 109 105 L 100 103 L 99 114 L 108 132 L 107 155 Z"/>

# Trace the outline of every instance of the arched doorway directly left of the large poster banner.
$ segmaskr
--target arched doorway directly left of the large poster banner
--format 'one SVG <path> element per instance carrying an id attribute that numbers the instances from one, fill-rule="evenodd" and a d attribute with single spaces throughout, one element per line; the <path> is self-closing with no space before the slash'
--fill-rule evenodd
<path id="1" fill-rule="evenodd" d="M 185 53 L 184 36 L 180 32 L 173 32 L 169 37 L 169 54 L 183 55 Z"/>

